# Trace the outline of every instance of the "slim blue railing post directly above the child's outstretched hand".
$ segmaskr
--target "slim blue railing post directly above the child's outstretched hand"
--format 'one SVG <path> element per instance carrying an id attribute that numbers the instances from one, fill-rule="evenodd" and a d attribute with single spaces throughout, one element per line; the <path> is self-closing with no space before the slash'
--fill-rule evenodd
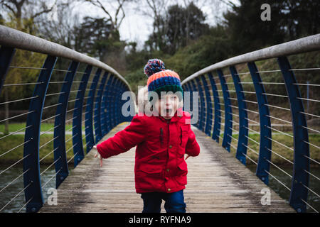
<path id="1" fill-rule="evenodd" d="M 102 76 L 99 89 L 97 90 L 97 99 L 95 99 L 95 143 L 99 143 L 102 139 L 102 129 L 101 129 L 101 100 L 103 89 L 105 88 L 105 82 L 107 81 L 108 72 L 105 72 Z"/>

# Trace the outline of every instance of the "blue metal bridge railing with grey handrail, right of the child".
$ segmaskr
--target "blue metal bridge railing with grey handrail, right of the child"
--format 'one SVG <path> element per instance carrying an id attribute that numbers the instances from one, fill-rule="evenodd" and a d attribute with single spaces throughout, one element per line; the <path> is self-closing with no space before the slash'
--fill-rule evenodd
<path id="1" fill-rule="evenodd" d="M 320 145 L 319 140 L 310 142 L 309 135 L 315 133 L 314 135 L 320 136 L 320 131 L 308 127 L 306 117 L 309 116 L 319 120 L 320 116 L 306 112 L 304 102 L 307 102 L 308 106 L 309 102 L 319 105 L 319 90 L 316 89 L 320 84 L 310 85 L 304 74 L 320 70 L 320 65 L 317 65 L 319 61 L 314 60 L 314 62 L 305 62 L 312 67 L 292 69 L 287 56 L 294 57 L 300 53 L 311 51 L 318 51 L 319 54 L 319 50 L 320 34 L 311 35 L 218 62 L 192 74 L 181 83 L 185 91 L 199 93 L 199 111 L 193 111 L 192 113 L 198 114 L 199 122 L 195 126 L 212 135 L 212 138 L 218 143 L 221 142 L 220 138 L 223 148 L 228 152 L 233 151 L 235 157 L 242 164 L 246 165 L 246 161 L 250 160 L 257 165 L 256 175 L 262 182 L 269 184 L 269 177 L 271 176 L 282 185 L 281 187 L 287 189 L 289 191 L 289 204 L 297 212 L 306 212 L 307 208 L 309 211 L 318 212 L 308 203 L 308 194 L 313 196 L 314 204 L 319 203 L 319 192 L 316 192 L 316 189 L 311 189 L 309 181 L 312 179 L 315 181 L 315 185 L 319 186 L 319 176 L 311 172 L 310 162 L 316 167 L 319 167 L 320 163 L 317 157 L 310 156 L 309 147 L 311 146 L 319 153 Z M 274 61 L 274 65 L 279 65 L 279 69 L 259 71 L 256 63 L 263 65 L 266 60 L 277 60 L 277 62 Z M 246 70 L 246 67 L 248 70 Z M 302 77 L 299 78 L 299 82 L 297 82 L 295 72 L 304 72 Z M 214 74 L 218 76 L 213 76 Z M 266 74 L 272 76 L 274 81 L 264 82 L 268 79 L 265 77 Z M 319 78 L 319 74 L 315 77 Z M 316 78 L 313 79 L 317 81 Z M 217 88 L 219 86 L 220 89 Z M 270 89 L 268 86 L 284 86 L 285 89 L 279 90 L 285 90 L 287 94 L 267 93 L 267 88 Z M 308 94 L 306 98 L 302 98 L 300 90 L 306 86 Z M 315 88 L 313 93 L 315 99 L 309 98 L 309 87 Z M 254 98 L 256 100 L 252 100 Z M 203 101 L 204 99 L 206 99 L 206 104 Z M 271 104 L 270 100 L 276 104 Z M 283 103 L 289 104 L 288 107 L 277 105 Z M 319 106 L 314 107 L 314 109 L 319 110 Z M 279 110 L 285 113 L 277 116 Z M 290 116 L 291 120 L 289 121 Z M 214 119 L 213 124 L 211 123 L 212 119 Z M 279 130 L 277 128 L 279 122 L 282 124 L 280 128 L 289 127 L 289 131 L 292 132 Z M 260 128 L 260 131 L 254 129 L 257 127 Z M 220 131 L 222 129 L 223 131 Z M 223 138 L 221 133 L 223 133 Z M 260 139 L 257 140 L 256 136 L 252 135 L 259 135 Z M 289 138 L 291 145 L 284 143 L 287 140 L 279 141 L 277 135 Z M 278 150 L 288 151 L 292 154 L 292 160 L 284 157 L 285 155 Z M 292 175 L 272 162 L 272 155 L 277 155 L 284 162 L 292 165 Z M 291 185 L 288 186 L 273 176 L 270 173 L 272 168 L 277 168 L 286 177 L 289 177 Z"/>

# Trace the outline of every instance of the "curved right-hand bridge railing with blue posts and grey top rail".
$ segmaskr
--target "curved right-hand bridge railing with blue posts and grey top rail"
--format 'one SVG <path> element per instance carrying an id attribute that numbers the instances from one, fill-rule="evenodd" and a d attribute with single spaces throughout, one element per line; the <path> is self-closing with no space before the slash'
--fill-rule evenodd
<path id="1" fill-rule="evenodd" d="M 277 165 L 274 165 L 271 160 L 271 154 L 279 155 L 274 152 L 272 149 L 272 144 L 281 145 L 284 148 L 292 151 L 294 153 L 294 162 L 291 162 L 293 165 L 292 175 L 289 175 L 287 172 L 282 170 L 285 174 L 289 175 L 292 178 L 291 187 L 287 187 L 281 181 L 279 181 L 282 186 L 289 190 L 289 204 L 297 212 L 305 212 L 306 207 L 309 206 L 311 209 L 316 211 L 310 204 L 308 204 L 307 197 L 308 193 L 314 194 L 319 201 L 319 194 L 314 192 L 314 190 L 309 188 L 309 177 L 313 177 L 316 181 L 319 181 L 319 177 L 311 174 L 309 168 L 309 162 L 312 162 L 314 165 L 319 165 L 317 160 L 314 160 L 309 155 L 309 146 L 318 149 L 319 144 L 310 143 L 308 132 L 320 133 L 314 128 L 308 128 L 306 126 L 306 116 L 313 116 L 319 118 L 313 113 L 307 113 L 304 110 L 303 101 L 314 101 L 316 104 L 319 103 L 319 100 L 302 98 L 300 94 L 300 88 L 303 86 L 309 86 L 309 83 L 297 83 L 294 72 L 299 70 L 319 70 L 319 65 L 315 65 L 311 68 L 306 69 L 292 69 L 289 64 L 287 56 L 297 55 L 299 53 L 319 51 L 320 50 L 320 34 L 311 35 L 306 38 L 300 38 L 298 40 L 293 40 L 288 43 L 282 43 L 279 45 L 274 45 L 270 48 L 265 48 L 262 50 L 257 50 L 254 52 L 249 52 L 244 55 L 237 57 L 232 57 L 228 60 L 215 63 L 210 65 L 203 70 L 200 70 L 181 82 L 183 89 L 188 92 L 199 92 L 199 111 L 193 111 L 193 114 L 198 114 L 199 122 L 195 124 L 197 128 L 205 133 L 208 133 L 208 127 L 210 128 L 210 135 L 212 138 L 219 142 L 220 136 L 220 126 L 223 125 L 223 141 L 222 146 L 230 152 L 230 148 L 235 150 L 235 157 L 245 165 L 246 159 L 250 159 L 257 165 L 256 175 L 259 177 L 265 184 L 269 182 L 270 174 L 270 165 L 272 167 L 277 167 L 282 170 Z M 279 65 L 279 69 L 272 69 L 265 72 L 259 72 L 255 62 L 261 60 L 276 59 Z M 310 63 L 310 62 L 309 62 Z M 236 67 L 238 65 L 247 64 L 247 72 L 238 73 Z M 227 72 L 224 74 L 224 72 Z M 260 74 L 262 73 L 272 73 L 272 72 L 281 72 L 283 83 L 279 82 L 270 82 L 265 83 L 262 80 Z M 215 74 L 216 76 L 213 76 Z M 240 76 L 244 74 L 250 74 L 252 82 L 242 82 Z M 206 78 L 205 78 L 206 77 Z M 202 79 L 202 84 L 205 86 L 205 91 L 201 87 L 200 81 Z M 220 84 L 218 84 L 218 82 Z M 209 84 L 211 86 L 208 86 Z M 242 84 L 252 84 L 252 89 L 254 91 L 244 91 Z M 265 90 L 265 85 L 267 84 L 284 84 L 287 90 L 286 95 L 279 94 L 268 94 Z M 192 85 L 192 86 L 190 86 Z M 233 86 L 235 89 L 232 90 L 228 88 Z M 315 87 L 320 86 L 319 84 L 312 84 Z M 221 89 L 217 89 L 220 86 Z M 222 96 L 221 96 L 222 94 Z M 235 96 L 230 96 L 235 94 Z M 255 94 L 257 101 L 252 101 L 246 99 L 245 96 Z M 203 107 L 203 95 L 207 99 L 206 109 Z M 289 102 L 290 109 L 283 108 L 281 106 L 274 106 L 268 103 L 268 96 L 278 96 L 279 98 L 287 98 Z M 232 103 L 233 102 L 233 103 Z M 210 105 L 214 103 L 214 105 Z M 236 104 L 234 104 L 236 103 Z M 248 104 L 256 105 L 256 109 L 252 110 L 247 107 Z M 223 109 L 220 105 L 223 105 Z M 214 106 L 214 108 L 213 108 Z M 270 108 L 274 109 L 283 109 L 290 111 L 292 115 L 292 122 L 288 122 L 281 118 L 275 118 L 270 114 Z M 207 117 L 208 114 L 214 113 L 214 123 L 212 128 L 212 123 L 209 121 L 203 122 L 203 119 Z M 259 118 L 257 120 L 252 120 L 248 117 L 248 114 L 256 115 Z M 224 115 L 224 116 L 223 116 Z M 235 119 L 238 119 L 236 121 Z M 282 121 L 285 123 L 292 124 L 293 133 L 284 133 L 277 130 L 272 126 L 272 120 Z M 255 131 L 249 127 L 249 123 L 254 123 L 256 126 L 260 127 L 260 131 Z M 204 126 L 203 126 L 204 124 Z M 235 130 L 238 128 L 238 130 Z M 221 131 L 222 132 L 222 131 Z M 238 139 L 233 137 L 233 132 L 238 134 Z M 282 133 L 282 135 L 289 136 L 293 140 L 293 148 L 272 138 L 273 133 Z M 256 133 L 260 135 L 259 142 L 255 139 L 250 138 L 249 133 Z M 259 146 L 259 150 L 250 148 L 249 143 L 253 143 L 255 146 Z M 235 145 L 233 145 L 235 144 Z M 247 152 L 252 152 L 257 155 L 257 161 L 252 160 Z M 281 156 L 281 155 L 280 155 Z M 271 175 L 272 176 L 272 175 Z M 272 176 L 274 177 L 274 176 Z M 278 181 L 277 178 L 274 177 Z M 317 183 L 319 184 L 319 182 Z"/>

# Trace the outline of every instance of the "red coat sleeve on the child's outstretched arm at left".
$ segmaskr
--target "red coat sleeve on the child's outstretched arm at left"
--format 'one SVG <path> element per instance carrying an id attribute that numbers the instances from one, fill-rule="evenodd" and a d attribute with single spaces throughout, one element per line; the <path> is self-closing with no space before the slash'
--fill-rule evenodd
<path id="1" fill-rule="evenodd" d="M 134 116 L 129 126 L 97 145 L 97 151 L 103 158 L 124 153 L 144 141 L 145 126 L 143 116 Z"/>

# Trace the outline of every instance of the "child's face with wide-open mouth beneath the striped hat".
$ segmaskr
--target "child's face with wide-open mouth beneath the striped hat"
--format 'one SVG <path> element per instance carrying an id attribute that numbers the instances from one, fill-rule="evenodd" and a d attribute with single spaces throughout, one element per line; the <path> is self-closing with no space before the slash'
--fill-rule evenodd
<path id="1" fill-rule="evenodd" d="M 176 94 L 165 94 L 159 97 L 155 106 L 160 116 L 165 119 L 170 119 L 178 109 L 179 99 Z"/>

